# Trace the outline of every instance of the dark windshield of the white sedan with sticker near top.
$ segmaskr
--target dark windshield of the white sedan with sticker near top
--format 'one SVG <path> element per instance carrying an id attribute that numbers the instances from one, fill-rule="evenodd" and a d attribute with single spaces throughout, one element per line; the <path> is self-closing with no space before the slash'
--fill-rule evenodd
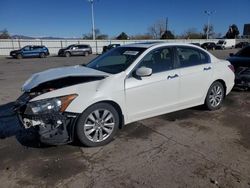
<path id="1" fill-rule="evenodd" d="M 100 55 L 86 66 L 103 72 L 117 74 L 126 70 L 146 48 L 118 47 Z"/>

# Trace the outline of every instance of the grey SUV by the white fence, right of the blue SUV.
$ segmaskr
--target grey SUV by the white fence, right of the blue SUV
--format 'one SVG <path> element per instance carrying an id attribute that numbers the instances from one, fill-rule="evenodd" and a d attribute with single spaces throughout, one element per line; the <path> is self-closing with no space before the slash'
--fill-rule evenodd
<path id="1" fill-rule="evenodd" d="M 72 44 L 66 48 L 62 48 L 58 51 L 58 56 L 70 57 L 73 55 L 87 56 L 92 54 L 92 48 L 86 44 Z"/>

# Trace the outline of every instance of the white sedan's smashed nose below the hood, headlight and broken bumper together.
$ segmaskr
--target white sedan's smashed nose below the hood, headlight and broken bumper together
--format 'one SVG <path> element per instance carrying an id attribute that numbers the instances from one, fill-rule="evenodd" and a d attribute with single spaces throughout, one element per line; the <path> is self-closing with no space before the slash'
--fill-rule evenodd
<path id="1" fill-rule="evenodd" d="M 16 112 L 25 129 L 34 127 L 40 141 L 59 145 L 73 140 L 73 128 L 78 114 L 65 112 L 77 95 L 30 101 L 36 93 L 24 93 L 16 101 Z"/>

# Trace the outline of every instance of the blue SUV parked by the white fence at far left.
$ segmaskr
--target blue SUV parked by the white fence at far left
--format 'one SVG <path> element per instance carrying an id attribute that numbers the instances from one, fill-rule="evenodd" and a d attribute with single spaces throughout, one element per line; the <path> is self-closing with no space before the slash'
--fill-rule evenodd
<path id="1" fill-rule="evenodd" d="M 19 50 L 13 50 L 10 52 L 10 56 L 13 58 L 21 59 L 24 57 L 40 57 L 44 58 L 49 55 L 49 50 L 45 46 L 29 45 L 24 46 Z"/>

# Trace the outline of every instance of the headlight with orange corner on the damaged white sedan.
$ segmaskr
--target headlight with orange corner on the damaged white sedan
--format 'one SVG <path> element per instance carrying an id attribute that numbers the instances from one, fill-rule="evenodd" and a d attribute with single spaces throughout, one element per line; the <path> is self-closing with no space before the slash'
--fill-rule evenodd
<path id="1" fill-rule="evenodd" d="M 27 104 L 25 114 L 48 114 L 51 112 L 64 112 L 69 104 L 77 97 L 76 94 L 62 97 L 43 99 Z"/>

